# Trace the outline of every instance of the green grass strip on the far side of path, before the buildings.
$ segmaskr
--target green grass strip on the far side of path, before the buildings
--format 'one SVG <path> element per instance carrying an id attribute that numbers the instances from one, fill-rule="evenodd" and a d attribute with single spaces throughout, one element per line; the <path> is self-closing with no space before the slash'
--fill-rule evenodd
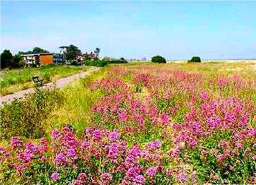
<path id="1" fill-rule="evenodd" d="M 82 72 L 90 67 L 72 65 L 45 65 L 40 68 L 11 69 L 1 71 L 1 96 L 34 86 L 32 76 L 38 75 L 44 83 Z"/>

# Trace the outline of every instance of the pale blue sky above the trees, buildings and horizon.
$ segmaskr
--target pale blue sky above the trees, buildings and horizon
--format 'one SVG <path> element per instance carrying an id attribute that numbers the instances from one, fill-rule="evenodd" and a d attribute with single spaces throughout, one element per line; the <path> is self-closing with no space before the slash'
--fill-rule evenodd
<path id="1" fill-rule="evenodd" d="M 256 1 L 1 1 L 1 52 L 255 59 Z"/>

